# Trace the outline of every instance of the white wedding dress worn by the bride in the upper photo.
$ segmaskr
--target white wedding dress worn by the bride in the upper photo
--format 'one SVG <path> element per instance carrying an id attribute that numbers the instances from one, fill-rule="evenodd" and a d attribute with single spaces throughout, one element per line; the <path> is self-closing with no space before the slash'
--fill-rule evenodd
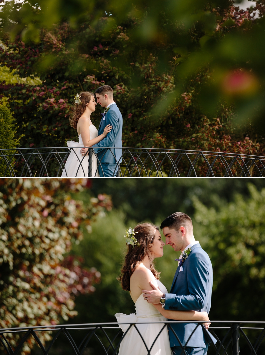
<path id="1" fill-rule="evenodd" d="M 90 139 L 94 139 L 98 136 L 98 130 L 94 125 L 89 126 Z M 88 176 L 88 154 L 83 157 L 81 154 L 81 148 L 84 147 L 81 134 L 78 136 L 79 142 L 67 141 L 68 148 L 71 149 L 71 153 L 67 158 L 66 163 L 64 164 L 64 169 L 62 173 L 62 177 L 74 178 L 75 176 L 78 178 L 84 178 Z M 93 153 L 92 155 L 92 176 L 98 176 L 97 171 L 97 158 Z M 97 171 L 97 173 L 96 173 Z M 66 174 L 67 173 L 67 174 Z"/>

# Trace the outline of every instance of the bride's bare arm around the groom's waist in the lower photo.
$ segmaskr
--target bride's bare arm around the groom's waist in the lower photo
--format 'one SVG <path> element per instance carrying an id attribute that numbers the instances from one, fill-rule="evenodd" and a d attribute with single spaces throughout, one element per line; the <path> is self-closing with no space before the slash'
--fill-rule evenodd
<path id="1" fill-rule="evenodd" d="M 153 304 L 153 306 L 162 314 L 162 316 L 168 319 L 173 319 L 175 321 L 209 321 L 207 312 L 171 311 L 162 308 L 161 304 Z"/>

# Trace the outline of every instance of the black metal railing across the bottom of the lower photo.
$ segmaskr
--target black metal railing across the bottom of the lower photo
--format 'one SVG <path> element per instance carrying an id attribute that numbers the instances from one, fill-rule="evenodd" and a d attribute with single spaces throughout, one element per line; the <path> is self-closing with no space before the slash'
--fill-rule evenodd
<path id="1" fill-rule="evenodd" d="M 56 348 L 58 339 L 63 337 L 63 343 L 61 344 L 67 346 L 68 353 L 70 354 L 82 355 L 85 353 L 86 349 L 90 349 L 93 354 L 116 355 L 119 352 L 122 340 L 133 327 L 139 334 L 139 337 L 134 340 L 143 342 L 146 355 L 151 354 L 155 342 L 165 328 L 171 329 L 175 341 L 182 349 L 182 354 L 186 355 L 185 349 L 189 346 L 189 340 L 192 334 L 198 327 L 202 327 L 206 343 L 208 340 L 210 342 L 211 339 L 209 332 L 217 339 L 216 344 L 212 343 L 209 346 L 208 355 L 262 355 L 265 353 L 263 344 L 265 338 L 265 322 L 212 321 L 209 331 L 203 327 L 202 322 L 189 322 L 195 323 L 195 327 L 186 344 L 180 342 L 178 334 L 175 333 L 172 327 L 174 323 L 184 322 L 153 322 L 152 324 L 159 324 L 160 330 L 157 334 L 153 335 L 154 341 L 152 344 L 149 344 L 149 346 L 146 344 L 148 339 L 144 338 L 138 329 L 138 326 L 146 324 L 145 322 L 129 324 L 125 333 L 122 333 L 118 323 L 6 328 L 0 330 L 0 350 L 1 354 L 17 355 L 25 351 L 23 347 L 26 346 L 26 348 L 29 349 L 29 344 L 32 348 L 35 343 L 35 349 L 39 348 L 39 353 L 48 355 Z M 150 324 L 150 322 L 148 322 L 148 324 Z M 47 342 L 49 338 L 50 340 Z M 71 349 L 70 352 L 69 349 Z M 60 353 L 62 353 L 62 348 L 60 349 Z M 64 352 L 64 354 L 65 353 L 66 352 Z"/>

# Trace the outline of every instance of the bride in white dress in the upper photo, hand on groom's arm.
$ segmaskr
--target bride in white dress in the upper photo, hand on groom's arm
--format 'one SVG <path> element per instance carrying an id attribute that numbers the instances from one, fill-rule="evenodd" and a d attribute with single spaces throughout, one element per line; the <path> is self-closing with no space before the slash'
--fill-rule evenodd
<path id="1" fill-rule="evenodd" d="M 103 140 L 111 131 L 112 126 L 106 125 L 104 132 L 98 136 L 98 130 L 92 124 L 90 115 L 96 110 L 96 101 L 92 92 L 81 92 L 75 95 L 74 112 L 70 116 L 70 125 L 77 130 L 79 143 L 68 141 L 67 146 L 71 153 L 64 164 L 62 177 L 85 177 L 88 176 L 88 155 L 81 154 L 81 148 L 91 147 Z M 92 155 L 92 176 L 98 176 L 97 157 Z"/>

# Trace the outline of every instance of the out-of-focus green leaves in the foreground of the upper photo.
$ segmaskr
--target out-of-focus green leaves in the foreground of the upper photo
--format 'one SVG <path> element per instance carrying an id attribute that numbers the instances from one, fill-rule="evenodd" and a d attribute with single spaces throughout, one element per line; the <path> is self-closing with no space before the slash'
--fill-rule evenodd
<path id="1" fill-rule="evenodd" d="M 258 5 L 261 3 L 257 1 Z M 1 28 L 2 33 L 9 33 L 11 40 L 19 35 L 29 44 L 65 24 L 76 29 L 75 34 L 69 34 L 67 46 L 61 52 L 44 50 L 38 62 L 41 72 L 48 72 L 62 62 L 68 66 L 66 76 L 80 75 L 86 70 L 90 70 L 90 75 L 94 69 L 100 71 L 97 60 L 91 60 L 97 53 L 90 48 L 91 33 L 98 44 L 109 42 L 106 48 L 103 46 L 104 53 L 98 55 L 117 72 L 126 73 L 129 89 L 138 89 L 146 79 L 138 75 L 134 64 L 145 65 L 150 58 L 155 58 L 155 75 L 172 76 L 174 86 L 161 93 L 163 99 L 156 98 L 147 115 L 144 114 L 144 117 L 151 115 L 154 122 L 161 121 L 168 103 L 192 91 L 192 80 L 205 75 L 194 94 L 197 111 L 214 121 L 218 106 L 227 103 L 235 113 L 229 120 L 236 117 L 235 122 L 241 127 L 248 122 L 255 128 L 246 126 L 245 131 L 264 135 L 265 22 L 261 5 L 255 9 L 254 16 L 253 9 L 238 10 L 232 0 L 137 0 L 133 3 L 131 0 L 40 0 L 20 4 L 10 1 L 2 5 Z M 117 29 L 121 33 L 115 36 Z M 84 45 L 84 38 L 79 36 L 86 34 Z M 115 50 L 111 51 L 112 45 Z M 242 73 L 242 79 L 245 77 L 245 84 L 248 82 L 245 89 L 242 81 L 236 90 L 233 80 L 226 80 L 234 73 Z M 135 131 L 138 130 L 137 127 Z"/>

